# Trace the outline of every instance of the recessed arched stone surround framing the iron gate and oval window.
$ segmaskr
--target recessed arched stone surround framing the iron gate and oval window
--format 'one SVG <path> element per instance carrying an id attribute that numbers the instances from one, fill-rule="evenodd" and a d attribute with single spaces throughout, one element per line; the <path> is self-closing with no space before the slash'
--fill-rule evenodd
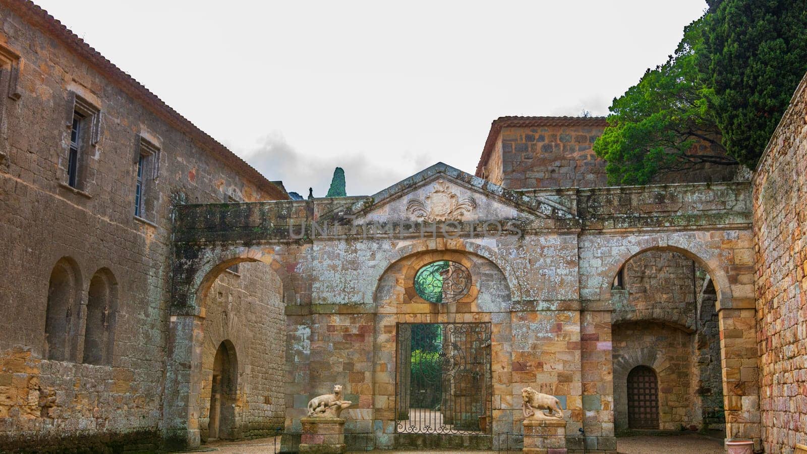
<path id="1" fill-rule="evenodd" d="M 470 271 L 472 276 L 470 290 L 458 301 L 445 304 L 430 303 L 424 301 L 416 291 L 417 271 L 429 263 L 441 260 L 459 263 Z M 408 349 L 401 348 L 397 336 L 400 335 L 398 327 L 404 324 L 452 327 L 462 326 L 463 323 L 490 324 L 491 345 L 479 346 L 488 348 L 491 355 L 491 387 L 489 390 L 479 390 L 479 393 L 485 394 L 484 405 L 488 409 L 483 413 L 490 414 L 492 419 L 485 421 L 485 432 L 495 434 L 499 431 L 512 431 L 512 412 L 509 411 L 511 410 L 509 402 L 512 401 L 514 393 L 509 378 L 509 374 L 512 373 L 510 299 L 508 280 L 500 267 L 487 258 L 466 250 L 417 250 L 404 255 L 385 268 L 374 287 L 374 303 L 378 312 L 375 317 L 374 338 L 376 351 L 374 396 L 377 402 L 374 410 L 376 419 L 380 422 L 375 432 L 378 443 L 383 443 L 379 447 L 392 448 L 395 443 L 405 445 L 421 442 L 426 443 L 424 446 L 437 446 L 429 444 L 429 439 L 422 439 L 424 434 L 417 430 L 400 430 L 402 426 L 398 419 L 403 416 L 399 417 L 396 414 L 396 404 L 401 396 L 396 393 L 403 393 L 405 390 L 399 389 L 398 368 L 401 363 L 397 359 L 402 351 L 408 352 Z M 520 392 L 521 389 L 517 391 Z M 442 414 L 441 411 L 433 412 L 438 413 Z M 449 419 L 444 417 L 441 421 L 451 425 L 457 423 L 454 419 Z M 464 443 L 475 443 L 474 434 L 483 433 L 477 427 L 470 431 L 466 428 L 463 432 L 467 432 L 466 435 L 451 435 L 451 431 L 446 431 L 445 434 L 436 436 L 443 439 L 443 443 L 451 443 L 452 437 L 458 437 L 454 443 L 460 444 L 454 447 L 469 448 Z M 493 439 L 495 440 L 495 436 Z M 489 441 L 487 438 L 487 443 Z M 482 445 L 477 447 L 496 448 Z"/>

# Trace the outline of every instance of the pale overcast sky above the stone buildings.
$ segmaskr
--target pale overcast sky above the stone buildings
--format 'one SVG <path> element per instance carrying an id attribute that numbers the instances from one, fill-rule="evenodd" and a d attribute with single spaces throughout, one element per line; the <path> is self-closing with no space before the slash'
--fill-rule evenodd
<path id="1" fill-rule="evenodd" d="M 474 173 L 499 116 L 606 115 L 703 0 L 34 0 L 288 191 Z"/>

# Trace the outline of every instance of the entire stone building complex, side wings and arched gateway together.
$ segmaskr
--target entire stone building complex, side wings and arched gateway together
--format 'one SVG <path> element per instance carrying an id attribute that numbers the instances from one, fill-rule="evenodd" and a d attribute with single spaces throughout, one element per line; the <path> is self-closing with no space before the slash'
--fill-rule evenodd
<path id="1" fill-rule="evenodd" d="M 807 82 L 751 182 L 607 187 L 603 119 L 502 117 L 475 175 L 289 200 L 33 3 L 0 25 L 0 450 L 293 449 L 333 385 L 374 448 L 519 448 L 527 386 L 570 452 L 807 443 Z"/>

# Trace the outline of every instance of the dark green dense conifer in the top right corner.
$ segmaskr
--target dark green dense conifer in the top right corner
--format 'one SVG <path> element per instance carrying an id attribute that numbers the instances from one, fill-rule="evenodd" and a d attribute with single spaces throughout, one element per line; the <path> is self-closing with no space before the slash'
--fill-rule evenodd
<path id="1" fill-rule="evenodd" d="M 755 167 L 807 71 L 807 0 L 713 0 L 700 71 L 723 144 Z"/>

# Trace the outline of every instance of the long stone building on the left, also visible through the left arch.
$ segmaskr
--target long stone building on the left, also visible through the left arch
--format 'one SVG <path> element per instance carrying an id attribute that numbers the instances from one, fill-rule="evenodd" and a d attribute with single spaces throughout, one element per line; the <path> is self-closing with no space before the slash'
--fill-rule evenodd
<path id="1" fill-rule="evenodd" d="M 287 198 L 39 7 L 0 2 L 0 451 L 157 446 L 174 206 Z M 239 435 L 259 435 L 284 418 L 283 308 L 266 265 L 233 271 L 200 392 L 235 343 Z"/>

